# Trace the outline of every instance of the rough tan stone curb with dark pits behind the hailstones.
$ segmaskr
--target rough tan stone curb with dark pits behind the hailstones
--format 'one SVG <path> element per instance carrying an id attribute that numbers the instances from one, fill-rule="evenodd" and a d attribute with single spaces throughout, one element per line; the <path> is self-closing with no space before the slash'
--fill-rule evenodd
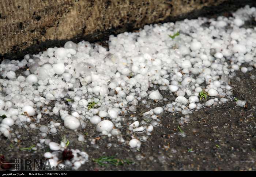
<path id="1" fill-rule="evenodd" d="M 196 18 L 253 0 L 1 0 L 0 56 L 20 59 L 67 40 L 90 42 L 146 24 Z M 227 5 L 228 4 L 228 5 Z M 224 8 L 223 8 L 224 7 Z M 202 12 L 202 13 L 201 13 Z"/>

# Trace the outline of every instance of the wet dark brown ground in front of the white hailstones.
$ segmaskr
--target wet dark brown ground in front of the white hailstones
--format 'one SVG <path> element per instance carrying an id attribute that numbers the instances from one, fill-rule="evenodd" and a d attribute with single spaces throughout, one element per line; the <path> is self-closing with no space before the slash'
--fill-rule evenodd
<path id="1" fill-rule="evenodd" d="M 185 137 L 179 135 L 177 128 L 182 114 L 164 113 L 160 117 L 161 125 L 154 128 L 147 142 L 142 142 L 140 151 L 132 151 L 127 143 L 118 144 L 116 137 L 101 136 L 97 143 L 92 145 L 91 139 L 97 138 L 98 134 L 91 124 L 79 131 L 87 134 L 84 135 L 86 142 L 83 143 L 77 140 L 78 132 L 66 128 L 60 128 L 57 135 L 49 134 L 47 138 L 60 142 L 65 135 L 70 141 L 69 148 L 87 152 L 89 162 L 79 170 L 256 170 L 256 80 L 251 79 L 251 75 L 256 75 L 255 69 L 246 74 L 237 72 L 235 78 L 239 77 L 241 81 L 234 78 L 230 84 L 234 97 L 248 101 L 247 109 L 237 107 L 235 102 L 231 101 L 211 109 L 194 111 L 190 114 L 191 122 L 181 127 Z M 173 101 L 174 95 L 162 94 L 169 99 L 167 102 Z M 138 111 L 131 114 L 140 119 L 141 113 L 167 102 L 152 102 L 150 108 L 145 108 L 140 103 Z M 126 115 L 127 120 L 131 114 Z M 45 114 L 40 124 L 47 125 L 56 118 Z M 44 158 L 43 154 L 49 150 L 48 146 L 32 152 L 19 150 L 38 143 L 41 138 L 38 135 L 39 129 L 26 130 L 15 127 L 14 131 L 19 131 L 21 135 L 18 143 L 1 137 L 0 152 L 5 158 Z M 128 142 L 131 132 L 127 129 L 122 131 L 124 139 Z M 112 143 L 110 148 L 107 147 L 108 143 Z M 102 155 L 116 155 L 117 158 L 129 159 L 134 164 L 102 167 L 92 161 Z"/>

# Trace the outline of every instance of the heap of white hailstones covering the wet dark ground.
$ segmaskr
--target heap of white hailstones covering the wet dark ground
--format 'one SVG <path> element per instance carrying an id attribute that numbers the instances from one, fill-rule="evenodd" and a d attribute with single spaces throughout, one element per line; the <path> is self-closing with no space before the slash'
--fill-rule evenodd
<path id="1" fill-rule="evenodd" d="M 235 71 L 245 73 L 256 67 L 256 28 L 243 27 L 255 17 L 256 8 L 245 6 L 229 18 L 185 19 L 110 35 L 108 49 L 86 41 L 69 41 L 61 48 L 27 54 L 21 61 L 3 60 L 1 136 L 17 141 L 14 125 L 39 129 L 45 139 L 38 146 L 45 143 L 58 151 L 65 143 L 50 142 L 46 138 L 49 133 L 58 133 L 63 125 L 79 134 L 88 124 L 94 124 L 99 136 L 116 138 L 118 143 L 138 149 L 159 124 L 159 114 L 181 112 L 182 125 L 193 110 L 234 99 L 229 81 Z M 244 63 L 248 67 L 241 67 Z M 161 90 L 176 95 L 176 99 L 163 98 Z M 202 97 L 207 102 L 201 102 Z M 124 123 L 136 112 L 139 102 L 161 99 L 169 103 Z M 246 106 L 241 100 L 237 105 Z M 43 114 L 59 118 L 38 127 Z M 129 141 L 122 138 L 121 128 L 133 132 Z M 144 133 L 143 138 L 139 133 Z M 78 140 L 83 141 L 83 136 Z M 83 154 L 81 157 L 87 155 L 73 151 Z M 49 153 L 45 156 L 52 158 Z M 54 164 L 57 160 L 52 158 Z M 84 160 L 74 161 L 76 168 L 81 163 Z"/>

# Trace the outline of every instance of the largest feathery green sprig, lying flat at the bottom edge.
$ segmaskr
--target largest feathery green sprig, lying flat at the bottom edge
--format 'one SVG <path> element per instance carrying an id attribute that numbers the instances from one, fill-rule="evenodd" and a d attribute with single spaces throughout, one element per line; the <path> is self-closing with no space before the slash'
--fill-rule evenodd
<path id="1" fill-rule="evenodd" d="M 122 160 L 122 159 L 117 159 L 115 156 L 102 156 L 98 159 L 93 159 L 95 163 L 98 163 L 100 166 L 108 166 L 110 163 L 111 165 L 118 166 L 118 165 L 124 165 L 125 163 L 130 165 L 133 162 L 129 160 Z"/>

